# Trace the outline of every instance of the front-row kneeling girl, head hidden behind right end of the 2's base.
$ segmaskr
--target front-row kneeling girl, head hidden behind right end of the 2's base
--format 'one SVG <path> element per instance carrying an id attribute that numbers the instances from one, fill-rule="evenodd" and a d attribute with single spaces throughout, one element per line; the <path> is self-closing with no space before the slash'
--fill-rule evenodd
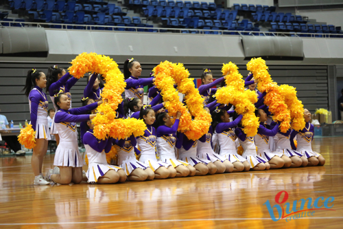
<path id="1" fill-rule="evenodd" d="M 143 182 L 145 179 L 154 179 L 152 169 L 142 162 L 139 162 L 134 155 L 134 146 L 137 145 L 137 140 L 134 135 L 130 138 L 114 140 L 117 149 L 117 164 L 124 169 L 130 182 Z"/>

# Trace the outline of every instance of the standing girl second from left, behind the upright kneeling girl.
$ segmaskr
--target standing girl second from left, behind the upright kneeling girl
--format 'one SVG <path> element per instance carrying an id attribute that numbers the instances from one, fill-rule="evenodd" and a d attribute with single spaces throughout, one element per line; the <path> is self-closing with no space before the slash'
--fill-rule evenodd
<path id="1" fill-rule="evenodd" d="M 78 82 L 78 78 L 71 77 L 70 74 L 65 72 L 65 70 L 57 65 L 49 67 L 47 71 L 47 87 L 46 91 L 49 92 L 49 96 L 51 98 L 52 104 L 54 105 L 55 110 L 57 111 L 57 107 L 54 102 L 54 96 L 59 92 L 63 92 L 67 94 L 67 96 L 71 99 L 70 89 Z M 71 107 L 71 102 L 70 102 Z M 55 122 L 53 119 L 52 127 L 51 127 L 51 134 L 55 135 L 56 144 L 58 146 L 60 142 L 60 137 L 58 136 L 58 131 L 55 127 Z"/>

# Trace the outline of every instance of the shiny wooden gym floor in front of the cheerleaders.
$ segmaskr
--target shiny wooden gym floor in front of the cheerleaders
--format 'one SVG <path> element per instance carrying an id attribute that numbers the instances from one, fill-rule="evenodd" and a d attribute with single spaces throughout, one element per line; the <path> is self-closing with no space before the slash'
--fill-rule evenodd
<path id="1" fill-rule="evenodd" d="M 316 138 L 314 150 L 324 166 L 52 187 L 33 185 L 31 156 L 1 157 L 0 228 L 342 228 L 343 137 Z M 54 154 L 45 157 L 44 172 L 53 162 Z M 331 210 L 272 221 L 263 204 L 274 206 L 283 190 L 291 208 L 335 199 Z"/>

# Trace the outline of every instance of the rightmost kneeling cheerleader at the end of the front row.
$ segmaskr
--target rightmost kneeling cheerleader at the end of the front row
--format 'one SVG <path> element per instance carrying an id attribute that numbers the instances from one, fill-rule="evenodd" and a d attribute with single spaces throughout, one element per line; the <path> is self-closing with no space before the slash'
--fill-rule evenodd
<path id="1" fill-rule="evenodd" d="M 325 159 L 320 153 L 312 151 L 312 140 L 314 140 L 314 125 L 309 123 L 311 120 L 311 113 L 308 109 L 304 109 L 305 118 L 305 128 L 301 131 L 292 131 L 291 138 L 289 138 L 293 149 L 296 149 L 303 156 L 307 157 L 309 163 L 307 166 L 323 166 L 325 164 Z M 294 137 L 298 142 L 298 146 L 294 145 Z"/>

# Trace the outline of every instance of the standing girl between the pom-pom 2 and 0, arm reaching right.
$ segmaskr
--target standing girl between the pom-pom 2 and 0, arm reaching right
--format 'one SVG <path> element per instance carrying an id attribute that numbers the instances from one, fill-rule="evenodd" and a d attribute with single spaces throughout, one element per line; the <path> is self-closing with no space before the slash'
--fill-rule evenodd
<path id="1" fill-rule="evenodd" d="M 139 79 L 141 64 L 131 58 L 124 62 L 124 77 L 126 82 L 125 98 L 139 98 L 143 102 L 144 86 L 155 82 L 154 77 Z"/>

